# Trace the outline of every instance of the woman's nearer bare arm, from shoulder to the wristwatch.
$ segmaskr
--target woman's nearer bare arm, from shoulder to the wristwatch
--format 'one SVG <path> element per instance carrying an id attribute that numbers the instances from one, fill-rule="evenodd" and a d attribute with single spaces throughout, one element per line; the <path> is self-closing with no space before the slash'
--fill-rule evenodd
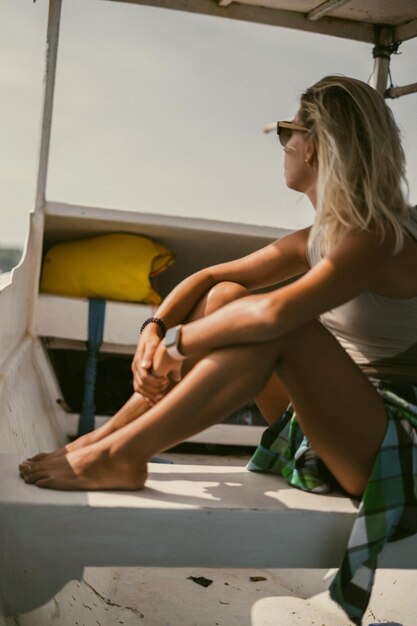
<path id="1" fill-rule="evenodd" d="M 392 246 L 372 233 L 346 236 L 316 266 L 290 285 L 232 302 L 183 327 L 185 355 L 276 339 L 365 290 L 378 291 L 389 275 Z"/>

